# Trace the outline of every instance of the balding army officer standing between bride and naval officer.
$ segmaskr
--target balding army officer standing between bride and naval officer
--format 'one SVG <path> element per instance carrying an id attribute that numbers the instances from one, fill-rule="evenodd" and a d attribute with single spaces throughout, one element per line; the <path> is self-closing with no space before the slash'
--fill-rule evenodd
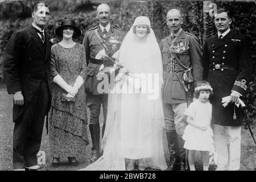
<path id="1" fill-rule="evenodd" d="M 202 56 L 198 39 L 182 30 L 183 20 L 179 10 L 171 9 L 167 13 L 166 21 L 171 34 L 161 40 L 160 49 L 165 81 L 162 90 L 163 112 L 171 160 L 169 169 L 184 170 L 186 150 L 183 148 L 182 135 L 187 122 L 183 113 L 187 108 L 189 94 L 192 95 L 193 90 L 193 84 L 188 83 L 202 80 Z M 188 80 L 184 80 L 185 72 Z"/>

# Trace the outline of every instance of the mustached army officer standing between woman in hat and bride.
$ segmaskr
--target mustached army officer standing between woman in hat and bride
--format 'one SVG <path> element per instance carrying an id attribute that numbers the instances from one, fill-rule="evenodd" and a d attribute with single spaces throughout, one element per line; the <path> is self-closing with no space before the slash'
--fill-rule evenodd
<path id="1" fill-rule="evenodd" d="M 111 57 L 118 51 L 121 46 L 123 35 L 122 31 L 118 28 L 110 25 L 110 7 L 107 4 L 101 4 L 97 7 L 97 18 L 99 20 L 99 25 L 91 28 L 85 33 L 85 38 L 83 39 L 83 45 L 86 51 L 86 62 L 87 62 L 87 78 L 92 79 L 92 83 L 87 88 L 87 83 L 85 80 L 85 90 L 86 90 L 86 105 L 90 109 L 90 123 L 89 129 L 91 133 L 91 140 L 93 143 L 92 158 L 90 162 L 95 162 L 100 155 L 99 152 L 99 113 L 101 110 L 101 105 L 103 107 L 104 123 L 102 128 L 102 137 L 105 130 L 105 123 L 107 117 L 107 93 L 99 93 L 97 86 L 101 80 L 97 80 L 97 74 L 99 72 L 99 67 L 103 64 L 105 67 L 112 67 L 113 62 L 109 59 L 99 60 L 95 59 L 95 56 L 104 49 L 101 44 L 101 40 L 95 34 L 98 32 L 99 36 L 105 43 L 109 51 L 105 52 Z"/>

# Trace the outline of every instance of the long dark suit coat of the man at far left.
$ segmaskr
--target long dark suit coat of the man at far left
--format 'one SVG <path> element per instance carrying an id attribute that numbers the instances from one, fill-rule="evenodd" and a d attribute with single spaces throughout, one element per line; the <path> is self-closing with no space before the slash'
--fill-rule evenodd
<path id="1" fill-rule="evenodd" d="M 45 32 L 46 51 L 43 43 L 30 24 L 11 36 L 3 56 L 3 76 L 7 92 L 13 94 L 22 91 L 24 105 L 13 106 L 13 122 L 26 109 L 35 91 L 46 74 L 50 92 L 51 42 Z"/>

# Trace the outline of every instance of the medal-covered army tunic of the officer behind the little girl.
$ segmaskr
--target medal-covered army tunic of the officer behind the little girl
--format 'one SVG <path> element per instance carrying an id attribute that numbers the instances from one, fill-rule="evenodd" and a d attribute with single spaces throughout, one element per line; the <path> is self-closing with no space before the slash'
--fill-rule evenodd
<path id="1" fill-rule="evenodd" d="M 188 43 L 187 37 L 191 36 Z M 173 71 L 170 72 L 167 67 L 173 61 L 170 48 L 185 50 L 183 53 L 177 53 L 177 57 L 182 64 L 187 67 L 192 66 L 193 76 L 195 82 L 202 80 L 203 65 L 202 65 L 202 53 L 199 41 L 196 36 L 191 35 L 184 30 L 171 42 L 171 35 L 166 36 L 160 42 L 160 49 L 163 57 L 163 80 L 165 84 L 163 86 L 163 103 L 165 104 L 178 104 L 187 102 L 187 93 L 179 81 L 179 78 L 183 79 L 184 69 L 181 65 L 173 64 Z M 178 76 L 176 75 L 178 73 Z"/>

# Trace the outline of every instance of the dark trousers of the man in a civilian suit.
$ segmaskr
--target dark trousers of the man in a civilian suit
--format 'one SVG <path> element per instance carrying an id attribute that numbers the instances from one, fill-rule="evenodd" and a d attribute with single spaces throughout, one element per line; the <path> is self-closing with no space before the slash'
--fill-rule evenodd
<path id="1" fill-rule="evenodd" d="M 43 123 L 49 102 L 49 88 L 45 80 L 42 79 L 29 105 L 15 121 L 13 131 L 14 169 L 37 165 L 37 152 L 41 145 Z"/>

